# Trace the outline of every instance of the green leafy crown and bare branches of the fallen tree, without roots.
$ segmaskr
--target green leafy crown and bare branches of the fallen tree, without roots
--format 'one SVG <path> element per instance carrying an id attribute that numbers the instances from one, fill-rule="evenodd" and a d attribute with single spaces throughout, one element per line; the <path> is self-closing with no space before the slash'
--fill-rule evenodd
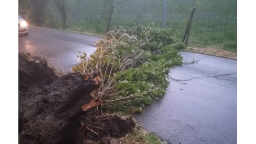
<path id="1" fill-rule="evenodd" d="M 95 46 L 90 58 L 86 53 L 78 55 L 81 62 L 73 71 L 99 73 L 103 83 L 95 98 L 107 102 L 111 111 L 125 113 L 165 94 L 169 69 L 181 64 L 178 49 L 184 47 L 176 42 L 171 29 L 155 25 L 112 30 Z"/>

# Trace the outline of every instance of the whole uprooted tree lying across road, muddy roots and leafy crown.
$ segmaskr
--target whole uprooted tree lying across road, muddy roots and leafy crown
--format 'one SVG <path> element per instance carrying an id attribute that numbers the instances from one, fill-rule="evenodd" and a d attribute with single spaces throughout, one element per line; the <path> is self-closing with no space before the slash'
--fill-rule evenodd
<path id="1" fill-rule="evenodd" d="M 19 53 L 19 143 L 97 143 L 132 132 L 127 114 L 164 95 L 181 64 L 171 29 L 151 25 L 106 33 L 75 73 L 58 78 L 45 60 Z M 102 142 L 103 143 L 103 142 Z M 106 142 L 107 143 L 107 142 Z"/>

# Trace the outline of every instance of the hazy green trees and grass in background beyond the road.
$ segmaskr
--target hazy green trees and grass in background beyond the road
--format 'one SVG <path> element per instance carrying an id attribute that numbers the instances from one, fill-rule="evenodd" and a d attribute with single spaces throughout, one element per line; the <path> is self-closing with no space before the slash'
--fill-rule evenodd
<path id="1" fill-rule="evenodd" d="M 163 11 L 166 3 L 166 13 Z M 119 25 L 125 28 L 155 23 L 172 28 L 183 38 L 195 7 L 189 45 L 219 47 L 237 52 L 236 0 L 23 0 L 19 13 L 43 27 L 104 34 Z M 164 24 L 163 24 L 164 22 Z"/>

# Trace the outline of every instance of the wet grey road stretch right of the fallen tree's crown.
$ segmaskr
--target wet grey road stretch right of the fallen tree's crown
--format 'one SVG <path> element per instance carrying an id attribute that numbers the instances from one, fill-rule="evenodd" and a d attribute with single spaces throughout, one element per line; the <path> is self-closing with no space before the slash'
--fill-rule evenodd
<path id="1" fill-rule="evenodd" d="M 137 122 L 168 143 L 237 143 L 237 61 L 181 52 L 160 101 L 146 106 Z"/>

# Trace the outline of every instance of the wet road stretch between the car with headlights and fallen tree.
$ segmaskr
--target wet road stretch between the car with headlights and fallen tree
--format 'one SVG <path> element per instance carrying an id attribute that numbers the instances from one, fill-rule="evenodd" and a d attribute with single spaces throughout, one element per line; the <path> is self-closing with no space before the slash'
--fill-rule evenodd
<path id="1" fill-rule="evenodd" d="M 61 30 L 29 27 L 27 37 L 19 37 L 19 51 L 46 58 L 50 66 L 62 72 L 71 71 L 78 62 L 78 52 L 90 55 L 93 43 L 101 38 L 73 34 Z"/>

